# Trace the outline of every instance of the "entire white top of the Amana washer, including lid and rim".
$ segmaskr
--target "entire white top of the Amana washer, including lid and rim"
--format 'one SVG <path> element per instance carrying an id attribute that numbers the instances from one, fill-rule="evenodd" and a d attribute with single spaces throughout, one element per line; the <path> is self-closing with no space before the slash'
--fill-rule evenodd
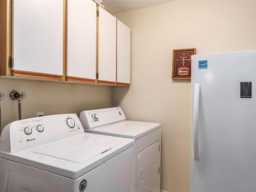
<path id="1" fill-rule="evenodd" d="M 0 157 L 57 175 L 77 179 L 134 145 L 133 139 L 83 133 Z M 111 150 L 108 150 L 108 148 Z"/>

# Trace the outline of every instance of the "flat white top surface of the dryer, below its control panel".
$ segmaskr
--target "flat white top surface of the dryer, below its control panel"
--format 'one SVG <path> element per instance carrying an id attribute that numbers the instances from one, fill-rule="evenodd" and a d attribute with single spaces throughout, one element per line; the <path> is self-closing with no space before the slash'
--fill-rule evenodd
<path id="1" fill-rule="evenodd" d="M 146 135 L 160 127 L 160 123 L 126 120 L 85 131 L 88 133 L 138 139 L 139 137 L 142 137 L 143 135 Z"/>

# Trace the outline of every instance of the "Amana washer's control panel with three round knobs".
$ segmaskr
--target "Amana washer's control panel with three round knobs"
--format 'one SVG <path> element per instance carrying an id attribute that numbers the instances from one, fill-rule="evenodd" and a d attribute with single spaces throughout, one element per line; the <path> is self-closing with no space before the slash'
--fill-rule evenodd
<path id="1" fill-rule="evenodd" d="M 76 114 L 49 115 L 14 121 L 0 137 L 0 151 L 13 153 L 84 133 Z"/>

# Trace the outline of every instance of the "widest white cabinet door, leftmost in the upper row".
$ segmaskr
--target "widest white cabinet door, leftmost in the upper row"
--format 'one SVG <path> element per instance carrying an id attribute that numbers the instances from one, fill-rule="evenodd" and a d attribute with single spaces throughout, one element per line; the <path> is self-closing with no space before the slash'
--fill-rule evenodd
<path id="1" fill-rule="evenodd" d="M 16 70 L 63 75 L 64 4 L 63 0 L 13 1 L 14 74 Z"/>

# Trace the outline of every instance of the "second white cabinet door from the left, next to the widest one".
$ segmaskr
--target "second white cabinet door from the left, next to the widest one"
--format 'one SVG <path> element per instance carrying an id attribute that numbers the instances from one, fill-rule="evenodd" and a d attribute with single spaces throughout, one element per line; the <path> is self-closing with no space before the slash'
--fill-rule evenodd
<path id="1" fill-rule="evenodd" d="M 67 79 L 96 81 L 96 3 L 68 0 L 67 14 Z"/>

